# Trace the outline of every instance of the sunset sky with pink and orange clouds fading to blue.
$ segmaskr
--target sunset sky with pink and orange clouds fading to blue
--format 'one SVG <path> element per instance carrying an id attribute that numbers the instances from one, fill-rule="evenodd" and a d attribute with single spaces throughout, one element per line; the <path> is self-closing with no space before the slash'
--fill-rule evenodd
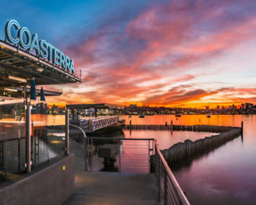
<path id="1" fill-rule="evenodd" d="M 82 84 L 61 103 L 202 107 L 256 104 L 256 2 L 1 1 L 0 38 L 15 19 L 66 52 Z"/>

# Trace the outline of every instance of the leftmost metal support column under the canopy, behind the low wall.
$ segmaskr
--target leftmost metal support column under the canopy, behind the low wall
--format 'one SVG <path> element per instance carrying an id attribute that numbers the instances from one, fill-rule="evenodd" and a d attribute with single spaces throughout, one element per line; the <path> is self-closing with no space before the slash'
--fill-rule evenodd
<path id="1" fill-rule="evenodd" d="M 27 172 L 31 172 L 31 128 L 30 128 L 30 103 L 26 107 L 26 168 Z"/>

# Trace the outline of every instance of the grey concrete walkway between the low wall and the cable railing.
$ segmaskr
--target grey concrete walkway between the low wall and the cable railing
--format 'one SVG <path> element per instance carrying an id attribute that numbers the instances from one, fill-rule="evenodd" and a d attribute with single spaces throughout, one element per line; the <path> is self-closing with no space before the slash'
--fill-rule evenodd
<path id="1" fill-rule="evenodd" d="M 160 204 L 154 176 L 85 172 L 81 148 L 72 140 L 70 151 L 75 153 L 75 193 L 64 204 Z"/>

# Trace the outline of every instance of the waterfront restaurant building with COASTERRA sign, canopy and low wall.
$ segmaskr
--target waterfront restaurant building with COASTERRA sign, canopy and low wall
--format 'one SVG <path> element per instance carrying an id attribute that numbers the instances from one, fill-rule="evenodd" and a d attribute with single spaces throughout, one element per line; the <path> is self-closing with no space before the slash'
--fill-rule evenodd
<path id="1" fill-rule="evenodd" d="M 62 203 L 74 186 L 68 134 L 51 138 L 47 116 L 31 116 L 31 107 L 62 94 L 44 86 L 81 79 L 72 58 L 18 21 L 0 33 L 0 203 Z"/>

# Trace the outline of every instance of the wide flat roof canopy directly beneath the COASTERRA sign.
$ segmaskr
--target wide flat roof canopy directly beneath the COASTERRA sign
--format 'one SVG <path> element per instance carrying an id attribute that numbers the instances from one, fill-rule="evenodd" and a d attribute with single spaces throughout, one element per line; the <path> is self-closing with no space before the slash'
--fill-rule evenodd
<path id="1" fill-rule="evenodd" d="M 12 76 L 10 79 L 9 76 Z M 21 78 L 15 80 L 14 77 Z M 79 77 L 53 65 L 43 58 L 36 57 L 0 40 L 0 87 L 13 87 L 23 84 L 22 79 L 34 78 L 37 85 L 71 84 L 81 82 Z"/>

